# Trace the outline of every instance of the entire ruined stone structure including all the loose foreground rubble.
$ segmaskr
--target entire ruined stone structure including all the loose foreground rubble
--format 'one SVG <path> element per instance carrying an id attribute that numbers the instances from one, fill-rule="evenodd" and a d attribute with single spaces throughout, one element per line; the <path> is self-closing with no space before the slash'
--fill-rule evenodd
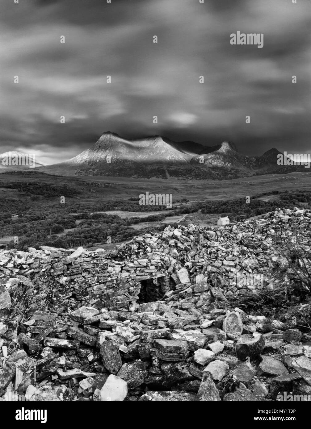
<path id="1" fill-rule="evenodd" d="M 0 251 L 0 401 L 309 394 L 310 330 L 230 302 L 288 285 L 292 267 L 276 238 L 295 235 L 308 250 L 310 223 L 310 211 L 280 208 L 223 227 L 168 226 L 110 255 Z M 296 307 L 310 314 L 308 302 Z"/>

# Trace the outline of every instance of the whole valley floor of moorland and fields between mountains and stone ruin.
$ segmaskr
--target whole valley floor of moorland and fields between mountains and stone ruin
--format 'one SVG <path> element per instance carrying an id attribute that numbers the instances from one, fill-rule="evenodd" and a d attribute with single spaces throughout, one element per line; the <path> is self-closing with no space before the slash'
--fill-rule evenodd
<path id="1" fill-rule="evenodd" d="M 14 229 L 17 231 L 18 228 L 13 227 L 14 224 L 23 224 L 21 213 L 24 212 L 27 216 L 28 211 L 32 210 L 33 213 L 38 212 L 51 213 L 55 211 L 62 216 L 62 213 L 71 221 L 67 221 L 64 225 L 63 230 L 55 231 L 54 236 L 59 239 L 64 239 L 67 234 L 71 234 L 71 237 L 76 227 L 82 226 L 82 229 L 90 231 L 92 234 L 92 243 L 95 247 L 98 247 L 97 243 L 97 228 L 102 228 L 105 225 L 105 220 L 101 214 L 110 216 L 111 220 L 108 224 L 110 226 L 105 227 L 108 231 L 114 230 L 113 236 L 117 235 L 116 225 L 117 217 L 124 220 L 124 225 L 131 230 L 133 235 L 134 231 L 137 234 L 142 233 L 143 230 L 146 232 L 152 232 L 157 229 L 163 229 L 166 225 L 178 225 L 180 224 L 201 224 L 202 226 L 216 225 L 217 220 L 220 217 L 220 212 L 234 212 L 230 210 L 230 201 L 236 199 L 245 199 L 246 196 L 254 196 L 265 192 L 271 192 L 270 195 L 259 196 L 259 200 L 262 202 L 277 201 L 281 198 L 280 192 L 290 192 L 291 190 L 305 190 L 309 191 L 311 187 L 311 173 L 310 172 L 295 172 L 288 175 L 262 175 L 252 176 L 248 178 L 239 178 L 234 180 L 172 180 L 165 181 L 162 179 L 139 179 L 139 178 L 116 178 L 116 177 L 95 177 L 95 176 L 56 176 L 45 174 L 43 172 L 1 172 L 0 173 L 0 216 L 2 212 L 3 227 L 7 227 L 8 220 L 12 226 L 10 232 L 3 234 L 0 227 L 0 244 L 8 243 L 12 240 L 12 237 L 16 235 Z M 195 208 L 192 212 L 179 210 L 176 213 L 173 212 L 172 216 L 168 216 L 163 219 L 164 215 L 169 215 L 170 211 L 166 208 L 164 210 L 153 210 L 147 211 L 148 208 L 158 208 L 159 206 L 140 206 L 138 205 L 139 195 L 141 193 L 168 193 L 173 196 L 173 205 L 175 208 L 189 208 L 196 202 L 198 208 Z M 275 191 L 275 193 L 274 193 Z M 66 194 L 65 203 L 61 204 L 61 196 Z M 214 210 L 211 202 L 224 201 L 224 210 L 220 211 L 220 205 L 218 204 L 218 213 L 211 213 Z M 303 201 L 299 200 L 299 201 Z M 6 209 L 7 206 L 18 207 L 15 212 L 14 210 Z M 228 204 L 226 204 L 228 202 Z M 101 207 L 98 207 L 101 204 Z M 208 210 L 204 210 L 204 205 L 209 205 Z M 282 206 L 283 202 L 280 201 Z M 234 202 L 232 202 L 234 205 Z M 124 208 L 122 210 L 122 207 Z M 128 209 L 125 209 L 128 207 Z M 203 207 L 203 210 L 200 208 Z M 245 208 L 246 206 L 244 206 Z M 96 211 L 98 208 L 98 211 Z M 137 211 L 135 211 L 137 208 Z M 243 208 L 242 208 L 243 209 Z M 102 210 L 102 211 L 99 211 Z M 143 210 L 143 211 L 142 211 Z M 146 211 L 145 211 L 146 210 Z M 205 212 L 204 212 L 205 211 Z M 6 213 L 9 212 L 9 213 Z M 17 215 L 18 212 L 18 215 Z M 186 214 L 185 214 L 186 212 Z M 90 216 L 93 213 L 94 215 Z M 86 215 L 85 215 L 86 214 Z M 88 214 L 88 215 L 87 215 Z M 98 215 L 95 215 L 98 214 Z M 258 213 L 257 213 L 258 214 Z M 79 216 L 80 215 L 80 216 Z M 148 221 L 144 220 L 147 216 L 160 215 L 159 219 L 149 218 Z M 30 215 L 30 220 L 31 221 Z M 76 217 L 76 219 L 74 218 Z M 96 216 L 99 216 L 97 220 Z M 249 216 L 253 216 L 248 215 Z M 141 222 L 136 220 L 128 221 L 129 218 L 141 218 Z M 51 217 L 50 217 L 51 218 Z M 255 216 L 256 218 L 256 216 Z M 41 219 L 41 218 L 40 218 Z M 33 224 L 27 230 L 27 233 L 23 233 L 27 237 L 31 237 L 33 234 L 33 227 L 41 228 L 39 218 L 33 218 Z M 43 218 L 42 218 L 43 219 Z M 53 218 L 52 224 L 58 224 L 58 218 Z M 25 221 L 26 219 L 24 219 Z M 85 220 L 86 223 L 85 223 Z M 1 218 L 0 218 L 1 222 Z M 28 220 L 27 220 L 28 222 Z M 37 222 L 37 224 L 36 224 Z M 126 222 L 128 222 L 126 224 Z M 107 224 L 107 222 L 106 222 Z M 76 226 L 75 226 L 76 225 Z M 85 226 L 86 225 L 86 226 Z M 94 228 L 93 228 L 94 225 Z M 51 226 L 52 228 L 52 226 Z M 85 229 L 86 228 L 86 229 Z M 20 230 L 20 229 L 19 229 Z M 40 229 L 41 230 L 41 229 Z M 14 232 L 13 232 L 14 231 Z M 49 230 L 46 230 L 46 236 L 51 236 Z M 118 239 L 113 241 L 125 241 L 129 235 L 127 231 L 122 233 L 122 228 L 119 229 L 121 235 Z M 14 234 L 14 235 L 13 235 Z M 77 230 L 79 236 L 79 231 Z M 122 235 L 123 234 L 123 235 Z M 135 234 L 135 233 L 134 233 Z M 18 234 L 20 235 L 20 234 Z M 107 233 L 111 235 L 111 233 Z M 104 233 L 101 234 L 102 241 L 99 242 L 100 247 L 111 250 L 115 246 L 114 243 L 107 245 Z M 40 239 L 38 239 L 40 242 Z M 43 240 L 46 240 L 43 238 Z M 88 243 L 88 246 L 93 245 Z M 73 246 L 73 244 L 71 244 Z M 77 244 L 75 244 L 77 246 Z"/>

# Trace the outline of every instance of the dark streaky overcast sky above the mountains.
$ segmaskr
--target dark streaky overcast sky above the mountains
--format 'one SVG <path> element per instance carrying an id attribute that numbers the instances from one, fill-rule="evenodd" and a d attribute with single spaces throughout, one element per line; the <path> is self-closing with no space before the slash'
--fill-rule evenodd
<path id="1" fill-rule="evenodd" d="M 308 0 L 0 0 L 0 28 L 0 153 L 57 163 L 106 131 L 311 152 Z"/>

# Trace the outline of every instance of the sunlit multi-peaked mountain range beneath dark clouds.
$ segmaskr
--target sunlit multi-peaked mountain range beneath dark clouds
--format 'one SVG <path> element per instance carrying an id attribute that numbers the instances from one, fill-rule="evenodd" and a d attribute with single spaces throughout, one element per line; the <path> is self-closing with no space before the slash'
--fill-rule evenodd
<path id="1" fill-rule="evenodd" d="M 281 152 L 272 148 L 261 156 L 250 157 L 240 154 L 229 142 L 209 147 L 192 141 L 173 142 L 157 135 L 124 139 L 108 131 L 79 155 L 49 166 L 36 164 L 36 170 L 61 175 L 164 179 L 228 179 L 305 171 L 299 166 L 277 165 L 278 154 Z"/>

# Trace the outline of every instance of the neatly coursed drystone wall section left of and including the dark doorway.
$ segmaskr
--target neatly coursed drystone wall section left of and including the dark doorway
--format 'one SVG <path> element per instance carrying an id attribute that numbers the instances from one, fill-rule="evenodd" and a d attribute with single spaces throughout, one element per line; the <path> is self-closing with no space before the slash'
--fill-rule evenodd
<path id="1" fill-rule="evenodd" d="M 0 299 L 6 306 L 0 308 L 0 321 L 47 308 L 67 312 L 86 305 L 118 310 L 137 302 L 141 281 L 148 281 L 148 302 L 161 299 L 175 285 L 170 276 L 163 276 L 167 273 L 161 266 L 155 268 L 149 260 L 113 261 L 100 251 L 83 250 L 83 257 L 47 253 L 0 255 L 0 296 L 6 296 Z"/>

